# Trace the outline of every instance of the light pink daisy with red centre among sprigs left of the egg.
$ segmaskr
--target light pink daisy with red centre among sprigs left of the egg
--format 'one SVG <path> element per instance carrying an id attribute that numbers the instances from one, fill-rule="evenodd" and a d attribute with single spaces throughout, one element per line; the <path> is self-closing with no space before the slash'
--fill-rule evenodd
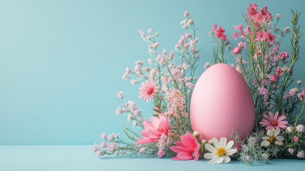
<path id="1" fill-rule="evenodd" d="M 157 94 L 159 86 L 157 86 L 157 82 L 153 82 L 153 79 L 151 78 L 151 82 L 148 82 L 148 80 L 146 80 L 146 82 L 142 82 L 142 87 L 139 87 L 139 98 L 143 98 L 143 101 L 146 100 L 146 102 L 148 102 L 148 100 L 152 100 L 153 96 Z"/>

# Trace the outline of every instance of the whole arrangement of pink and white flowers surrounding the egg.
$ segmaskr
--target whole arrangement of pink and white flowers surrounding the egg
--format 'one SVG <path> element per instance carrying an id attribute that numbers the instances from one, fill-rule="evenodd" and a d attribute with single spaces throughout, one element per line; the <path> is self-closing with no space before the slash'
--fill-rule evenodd
<path id="1" fill-rule="evenodd" d="M 180 37 L 174 50 L 168 52 L 158 49 L 158 33 L 148 29 L 140 31 L 141 37 L 149 44 L 149 66 L 136 61 L 134 69 L 128 67 L 122 78 L 131 80 L 132 85 L 140 84 L 139 98 L 153 102 L 153 114 L 146 119 L 136 103 L 125 101 L 123 92 L 117 96 L 122 106 L 116 114 L 126 114 L 133 127 L 140 132 L 123 126 L 128 141 L 118 134 L 101 134 L 101 144 L 94 145 L 97 156 L 103 155 L 151 155 L 160 158 L 172 156 L 172 160 L 210 159 L 209 163 L 228 163 L 231 159 L 245 164 L 267 163 L 270 158 L 305 158 L 305 88 L 288 90 L 294 84 L 294 65 L 299 59 L 298 20 L 300 14 L 293 12 L 292 30 L 282 31 L 277 27 L 281 15 L 273 18 L 267 7 L 260 11 L 257 5 L 250 4 L 248 14 L 244 16 L 247 26 L 234 26 L 233 37 L 240 39 L 238 46 L 230 50 L 229 37 L 223 27 L 214 25 L 210 36 L 215 42 L 212 50 L 212 62 L 227 63 L 233 56 L 234 67 L 246 80 L 255 104 L 255 125 L 246 139 L 239 133 L 231 133 L 230 141 L 226 137 L 199 141 L 199 133 L 191 128 L 190 101 L 194 88 L 195 70 L 198 67 L 198 38 L 194 19 L 189 12 L 184 13 L 181 21 L 186 33 Z M 291 32 L 291 33 L 290 33 Z M 291 52 L 281 52 L 280 45 L 287 34 L 291 34 Z M 175 59 L 178 61 L 175 61 Z M 204 68 L 210 64 L 207 62 Z"/>

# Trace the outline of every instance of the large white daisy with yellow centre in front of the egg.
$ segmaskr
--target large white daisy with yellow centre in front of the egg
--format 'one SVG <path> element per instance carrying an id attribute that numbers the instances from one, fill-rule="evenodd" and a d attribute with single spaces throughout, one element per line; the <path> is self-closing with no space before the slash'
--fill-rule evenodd
<path id="1" fill-rule="evenodd" d="M 211 159 L 208 163 L 228 163 L 231 159 L 228 155 L 232 155 L 237 152 L 237 149 L 231 149 L 234 142 L 231 140 L 227 144 L 227 138 L 220 138 L 218 141 L 216 138 L 212 138 L 213 146 L 206 144 L 205 148 L 209 151 L 205 153 L 204 158 Z"/>

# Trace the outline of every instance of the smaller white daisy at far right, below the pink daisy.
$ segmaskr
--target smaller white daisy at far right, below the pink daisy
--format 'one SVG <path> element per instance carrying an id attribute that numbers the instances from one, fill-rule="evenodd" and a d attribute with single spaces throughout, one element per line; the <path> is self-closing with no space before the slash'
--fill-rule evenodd
<path id="1" fill-rule="evenodd" d="M 278 136 L 280 133 L 280 130 L 277 130 L 277 129 L 272 129 L 272 130 L 268 130 L 267 131 L 267 135 L 268 136 L 264 136 L 263 137 L 263 140 L 261 142 L 261 146 L 265 146 L 265 147 L 268 147 L 270 144 L 276 144 L 276 145 L 283 145 L 283 140 L 284 140 L 284 137 L 283 136 Z"/>

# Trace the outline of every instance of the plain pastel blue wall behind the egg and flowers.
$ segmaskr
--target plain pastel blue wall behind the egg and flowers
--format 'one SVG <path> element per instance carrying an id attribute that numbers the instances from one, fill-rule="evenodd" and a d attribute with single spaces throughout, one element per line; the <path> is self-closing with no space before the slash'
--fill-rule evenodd
<path id="1" fill-rule="evenodd" d="M 180 25 L 190 11 L 198 32 L 197 77 L 211 61 L 213 24 L 244 23 L 248 0 L 1 0 L 0 1 L 0 144 L 93 144 L 100 133 L 121 133 L 126 116 L 116 116 L 116 97 L 137 102 L 150 116 L 152 104 L 137 99 L 138 86 L 121 79 L 134 61 L 147 62 L 148 46 L 138 31 L 152 27 L 160 47 L 172 50 L 184 33 Z M 281 13 L 280 28 L 290 26 L 290 8 L 302 12 L 303 0 L 256 1 Z M 282 51 L 289 51 L 289 39 Z M 305 82 L 304 45 L 295 76 Z"/>

